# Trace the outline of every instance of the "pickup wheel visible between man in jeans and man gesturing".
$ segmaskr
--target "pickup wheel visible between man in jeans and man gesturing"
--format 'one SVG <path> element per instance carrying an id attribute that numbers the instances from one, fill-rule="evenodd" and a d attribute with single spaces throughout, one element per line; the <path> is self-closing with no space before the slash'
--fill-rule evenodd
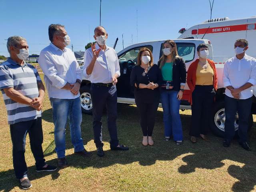
<path id="1" fill-rule="evenodd" d="M 92 115 L 92 95 L 90 86 L 85 85 L 80 87 L 79 92 L 82 113 Z"/>

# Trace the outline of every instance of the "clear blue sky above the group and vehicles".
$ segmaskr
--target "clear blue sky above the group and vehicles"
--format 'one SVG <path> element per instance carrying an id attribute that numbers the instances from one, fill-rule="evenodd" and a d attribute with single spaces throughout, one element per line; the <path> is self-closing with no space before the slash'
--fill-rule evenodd
<path id="1" fill-rule="evenodd" d="M 212 0 L 211 0 L 212 1 Z M 256 16 L 256 0 L 215 0 L 212 18 Z M 210 18 L 208 0 L 102 0 L 101 24 L 108 32 L 107 44 L 116 51 L 138 42 L 173 39 L 180 28 L 189 28 Z M 30 54 L 39 54 L 50 42 L 48 26 L 66 26 L 74 51 L 84 50 L 100 24 L 100 0 L 0 0 L 0 55 L 8 56 L 6 40 L 19 35 L 27 39 Z M 89 30 L 90 28 L 90 30 Z M 68 46 L 70 48 L 70 46 Z"/>

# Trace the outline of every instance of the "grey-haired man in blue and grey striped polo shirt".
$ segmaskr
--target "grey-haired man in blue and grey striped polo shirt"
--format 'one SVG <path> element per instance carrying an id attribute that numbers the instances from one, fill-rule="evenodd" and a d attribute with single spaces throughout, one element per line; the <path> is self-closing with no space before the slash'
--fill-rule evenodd
<path id="1" fill-rule="evenodd" d="M 25 38 L 9 37 L 7 49 L 10 58 L 0 65 L 0 90 L 10 124 L 14 172 L 20 180 L 21 187 L 28 189 L 32 185 L 28 180 L 24 156 L 27 133 L 36 160 L 36 171 L 56 170 L 55 166 L 45 163 L 42 150 L 41 108 L 44 85 L 37 70 L 24 61 L 28 57 L 28 44 Z"/>

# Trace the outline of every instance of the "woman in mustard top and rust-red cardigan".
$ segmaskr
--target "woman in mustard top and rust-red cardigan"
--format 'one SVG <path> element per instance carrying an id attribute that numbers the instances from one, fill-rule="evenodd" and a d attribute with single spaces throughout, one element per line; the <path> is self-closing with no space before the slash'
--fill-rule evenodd
<path id="1" fill-rule="evenodd" d="M 208 140 L 206 134 L 218 83 L 214 62 L 207 59 L 208 46 L 200 44 L 197 53 L 199 59 L 190 64 L 187 76 L 187 83 L 192 91 L 192 124 L 189 134 L 193 143 L 199 136 Z"/>

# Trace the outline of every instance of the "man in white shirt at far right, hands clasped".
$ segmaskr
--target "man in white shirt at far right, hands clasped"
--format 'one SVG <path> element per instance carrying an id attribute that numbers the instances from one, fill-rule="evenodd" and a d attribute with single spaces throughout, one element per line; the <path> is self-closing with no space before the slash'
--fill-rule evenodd
<path id="1" fill-rule="evenodd" d="M 235 135 L 234 121 L 239 116 L 239 144 L 251 150 L 247 143 L 248 120 L 252 106 L 252 86 L 256 84 L 256 59 L 245 54 L 248 41 L 238 39 L 234 44 L 236 56 L 226 61 L 223 71 L 225 91 L 225 139 L 224 147 L 229 147 Z"/>

